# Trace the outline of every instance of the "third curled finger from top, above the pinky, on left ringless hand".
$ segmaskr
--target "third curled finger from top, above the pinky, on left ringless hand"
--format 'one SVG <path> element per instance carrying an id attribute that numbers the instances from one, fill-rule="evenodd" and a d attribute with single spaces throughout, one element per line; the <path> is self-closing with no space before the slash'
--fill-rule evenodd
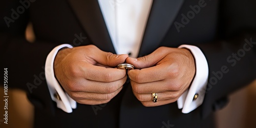
<path id="1" fill-rule="evenodd" d="M 111 100 L 114 98 L 120 91 L 122 87 L 117 91 L 110 94 L 102 94 L 102 93 L 89 93 L 89 92 L 74 92 L 70 93 L 70 97 L 76 100 L 89 99 L 89 100 Z"/>

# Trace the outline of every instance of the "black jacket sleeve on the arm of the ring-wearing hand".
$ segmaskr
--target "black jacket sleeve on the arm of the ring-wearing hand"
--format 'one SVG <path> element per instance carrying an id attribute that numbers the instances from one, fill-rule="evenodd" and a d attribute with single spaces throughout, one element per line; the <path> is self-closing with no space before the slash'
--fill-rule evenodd
<path id="1" fill-rule="evenodd" d="M 202 116 L 222 108 L 226 96 L 256 79 L 256 1 L 221 1 L 215 42 L 198 44 L 209 66 Z"/>

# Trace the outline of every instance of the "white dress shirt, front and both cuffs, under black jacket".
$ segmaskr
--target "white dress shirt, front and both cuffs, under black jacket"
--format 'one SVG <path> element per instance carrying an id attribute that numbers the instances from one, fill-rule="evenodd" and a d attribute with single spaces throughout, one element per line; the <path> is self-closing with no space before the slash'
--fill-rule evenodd
<path id="1" fill-rule="evenodd" d="M 113 46 L 117 54 L 131 54 L 136 58 L 145 31 L 148 15 L 150 14 L 153 0 L 98 0 L 106 27 L 110 33 Z M 76 102 L 65 93 L 58 84 L 53 71 L 53 61 L 59 49 L 73 48 L 65 44 L 54 48 L 46 60 L 46 80 L 52 100 L 57 102 L 57 107 L 67 113 L 76 108 Z M 178 108 L 182 113 L 189 113 L 202 104 L 205 88 L 208 81 L 208 64 L 202 51 L 190 45 L 182 45 L 193 53 L 196 62 L 196 75 L 189 89 L 178 99 Z M 54 97 L 58 93 L 61 100 Z M 194 100 L 195 94 L 198 98 Z"/>

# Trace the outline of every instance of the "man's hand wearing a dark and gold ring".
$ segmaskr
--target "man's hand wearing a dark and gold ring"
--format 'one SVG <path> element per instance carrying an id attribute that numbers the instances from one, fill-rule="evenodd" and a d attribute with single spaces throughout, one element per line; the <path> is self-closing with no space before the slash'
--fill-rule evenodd
<path id="1" fill-rule="evenodd" d="M 140 58 L 127 58 L 134 95 L 144 106 L 172 103 L 188 89 L 195 76 L 195 60 L 187 49 L 160 47 Z M 152 93 L 157 93 L 153 102 Z"/>

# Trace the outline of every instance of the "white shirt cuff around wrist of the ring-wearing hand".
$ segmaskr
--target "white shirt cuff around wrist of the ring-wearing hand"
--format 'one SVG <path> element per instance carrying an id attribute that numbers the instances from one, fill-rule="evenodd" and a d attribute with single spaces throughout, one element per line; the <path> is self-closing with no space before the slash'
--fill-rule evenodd
<path id="1" fill-rule="evenodd" d="M 196 75 L 188 90 L 177 100 L 178 108 L 182 109 L 182 113 L 189 113 L 203 103 L 205 89 L 208 81 L 208 63 L 203 52 L 196 46 L 181 45 L 178 48 L 186 48 L 194 55 L 196 62 Z M 198 94 L 198 98 L 194 96 Z"/>

